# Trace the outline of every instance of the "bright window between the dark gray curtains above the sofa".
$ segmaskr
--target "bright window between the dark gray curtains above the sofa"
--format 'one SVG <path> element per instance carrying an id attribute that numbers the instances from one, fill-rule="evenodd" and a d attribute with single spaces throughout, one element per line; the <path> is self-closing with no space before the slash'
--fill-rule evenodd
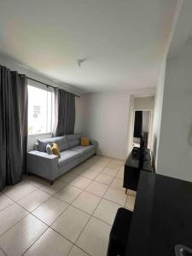
<path id="1" fill-rule="evenodd" d="M 28 134 L 51 133 L 54 124 L 54 96 L 28 84 Z"/>

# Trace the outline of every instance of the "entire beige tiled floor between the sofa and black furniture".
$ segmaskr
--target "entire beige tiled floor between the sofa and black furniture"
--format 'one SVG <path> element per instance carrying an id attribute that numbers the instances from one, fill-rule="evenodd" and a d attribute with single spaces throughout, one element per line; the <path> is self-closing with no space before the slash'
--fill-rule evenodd
<path id="1" fill-rule="evenodd" d="M 0 256 L 105 256 L 119 207 L 134 208 L 125 195 L 122 160 L 93 156 L 50 186 L 25 177 L 0 194 Z"/>

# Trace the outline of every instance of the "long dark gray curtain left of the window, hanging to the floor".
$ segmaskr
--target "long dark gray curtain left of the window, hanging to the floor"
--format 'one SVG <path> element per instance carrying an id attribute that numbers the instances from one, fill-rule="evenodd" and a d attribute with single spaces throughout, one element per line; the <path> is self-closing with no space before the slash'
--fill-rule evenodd
<path id="1" fill-rule="evenodd" d="M 26 171 L 26 76 L 0 66 L 0 190 Z"/>

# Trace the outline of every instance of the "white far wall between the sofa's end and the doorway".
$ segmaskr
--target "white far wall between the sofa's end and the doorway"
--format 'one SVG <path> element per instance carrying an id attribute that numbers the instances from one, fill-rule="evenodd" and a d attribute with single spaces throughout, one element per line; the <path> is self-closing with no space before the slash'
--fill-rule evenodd
<path id="1" fill-rule="evenodd" d="M 98 154 L 127 157 L 130 94 L 104 92 L 83 96 L 83 133 L 99 143 Z"/>

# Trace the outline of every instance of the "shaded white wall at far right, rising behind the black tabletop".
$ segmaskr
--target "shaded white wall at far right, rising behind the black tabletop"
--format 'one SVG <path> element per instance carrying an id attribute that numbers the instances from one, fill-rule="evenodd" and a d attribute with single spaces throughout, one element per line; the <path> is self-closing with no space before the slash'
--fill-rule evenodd
<path id="1" fill-rule="evenodd" d="M 157 172 L 192 181 L 192 39 L 166 63 Z"/>

